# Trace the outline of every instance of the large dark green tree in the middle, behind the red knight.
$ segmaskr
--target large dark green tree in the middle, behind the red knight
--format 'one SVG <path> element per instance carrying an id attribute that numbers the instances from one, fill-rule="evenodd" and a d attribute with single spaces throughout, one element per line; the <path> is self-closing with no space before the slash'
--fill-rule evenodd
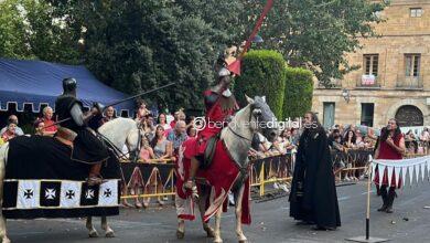
<path id="1" fill-rule="evenodd" d="M 58 4 L 60 6 L 60 4 Z M 150 99 L 203 108 L 202 92 L 214 81 L 221 47 L 240 32 L 241 9 L 232 1 L 78 1 L 86 28 L 85 60 L 96 76 L 120 91 L 138 93 L 170 82 L 174 88 Z M 244 24 L 241 25 L 244 27 Z"/>

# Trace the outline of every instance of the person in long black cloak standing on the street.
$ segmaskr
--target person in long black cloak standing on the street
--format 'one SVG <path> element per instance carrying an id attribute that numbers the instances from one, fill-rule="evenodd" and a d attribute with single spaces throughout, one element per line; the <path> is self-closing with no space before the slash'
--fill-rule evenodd
<path id="1" fill-rule="evenodd" d="M 290 216 L 314 230 L 335 230 L 341 215 L 332 159 L 324 128 L 314 113 L 304 115 L 291 184 Z"/>

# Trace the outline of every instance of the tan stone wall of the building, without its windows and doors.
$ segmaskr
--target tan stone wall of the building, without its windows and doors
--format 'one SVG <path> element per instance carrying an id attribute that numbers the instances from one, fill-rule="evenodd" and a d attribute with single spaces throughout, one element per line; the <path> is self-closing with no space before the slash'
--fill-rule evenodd
<path id="1" fill-rule="evenodd" d="M 410 17 L 410 8 L 422 8 L 420 18 Z M 363 49 L 346 54 L 351 65 L 363 66 L 364 54 L 378 54 L 378 87 L 361 87 L 363 68 L 344 76 L 337 88 L 314 89 L 312 108 L 323 119 L 323 103 L 335 103 L 335 124 L 359 124 L 362 103 L 374 103 L 374 126 L 387 124 L 402 105 L 418 107 L 430 125 L 430 0 L 391 0 L 391 6 L 381 12 L 386 22 L 375 27 L 380 38 L 361 41 Z M 398 87 L 405 81 L 405 54 L 420 54 L 420 82 L 422 85 Z M 350 92 L 351 101 L 342 96 L 342 88 Z"/>

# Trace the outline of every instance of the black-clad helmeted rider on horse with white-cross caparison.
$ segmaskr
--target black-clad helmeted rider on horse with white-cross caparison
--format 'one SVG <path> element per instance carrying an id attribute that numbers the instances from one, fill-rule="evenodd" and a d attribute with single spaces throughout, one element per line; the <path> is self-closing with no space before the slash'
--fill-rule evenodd
<path id="1" fill-rule="evenodd" d="M 97 104 L 90 112 L 83 112 L 83 103 L 76 98 L 77 82 L 68 77 L 63 80 L 63 94 L 55 101 L 55 113 L 58 120 L 71 118 L 60 124 L 55 135 L 58 139 L 73 141 L 72 160 L 90 165 L 87 182 L 89 186 L 104 182 L 100 176 L 101 163 L 109 158 L 104 142 L 88 127 L 88 122 L 100 114 Z"/>

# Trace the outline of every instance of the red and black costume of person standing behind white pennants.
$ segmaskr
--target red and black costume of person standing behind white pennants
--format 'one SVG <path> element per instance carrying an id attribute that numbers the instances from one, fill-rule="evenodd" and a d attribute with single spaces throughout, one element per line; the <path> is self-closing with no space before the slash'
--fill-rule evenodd
<path id="1" fill-rule="evenodd" d="M 396 122 L 397 123 L 397 122 Z M 390 134 L 390 130 L 387 128 L 383 128 L 381 135 L 378 138 L 378 144 L 376 145 L 376 151 L 375 156 L 376 159 L 393 159 L 393 160 L 400 160 L 402 159 L 402 155 L 400 151 L 398 151 L 396 148 L 390 146 L 387 142 L 387 138 L 393 139 L 394 146 L 400 148 L 400 141 L 404 139 L 404 135 L 400 131 L 394 133 L 393 137 Z M 388 183 L 388 169 L 386 168 L 384 171 L 381 183 L 379 184 L 379 173 L 378 168 L 375 169 L 375 178 L 374 182 L 376 184 L 379 191 L 380 197 L 383 198 L 383 207 L 378 209 L 379 212 L 387 212 L 393 213 L 393 203 L 396 194 L 396 188 L 400 188 L 402 181 L 401 178 L 399 179 L 399 183 L 396 184 L 396 176 L 393 175 L 391 177 L 391 186 L 389 187 Z"/>

